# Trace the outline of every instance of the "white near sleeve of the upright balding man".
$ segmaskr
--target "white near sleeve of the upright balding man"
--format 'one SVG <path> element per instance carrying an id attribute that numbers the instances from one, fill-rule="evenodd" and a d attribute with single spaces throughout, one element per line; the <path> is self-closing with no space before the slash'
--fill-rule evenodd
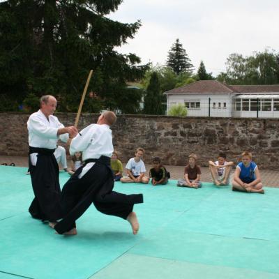
<path id="1" fill-rule="evenodd" d="M 43 139 L 56 140 L 58 128 L 46 126 L 38 116 L 31 116 L 27 121 L 27 128 Z"/>

